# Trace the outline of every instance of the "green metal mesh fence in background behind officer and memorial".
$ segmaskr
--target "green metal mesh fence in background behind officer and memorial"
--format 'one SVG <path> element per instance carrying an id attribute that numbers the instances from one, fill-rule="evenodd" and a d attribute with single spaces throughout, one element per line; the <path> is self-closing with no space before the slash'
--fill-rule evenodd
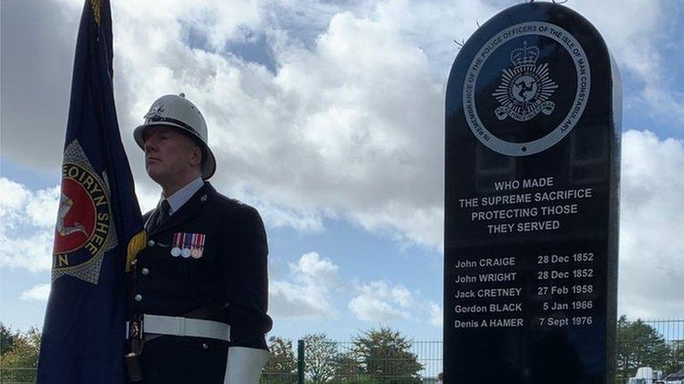
<path id="1" fill-rule="evenodd" d="M 617 340 L 616 384 L 624 384 L 638 367 L 660 369 L 665 375 L 684 367 L 684 320 L 624 322 Z M 282 364 L 269 363 L 285 369 L 264 371 L 261 383 L 433 384 L 442 371 L 442 341 L 411 340 L 409 348 L 402 351 L 376 348 L 362 352 L 352 341 L 326 343 L 312 351 L 300 340 L 291 356 L 281 357 L 282 362 L 275 360 Z M 305 364 L 307 355 L 310 364 Z M 0 367 L 2 384 L 34 383 L 35 377 L 34 367 Z"/>

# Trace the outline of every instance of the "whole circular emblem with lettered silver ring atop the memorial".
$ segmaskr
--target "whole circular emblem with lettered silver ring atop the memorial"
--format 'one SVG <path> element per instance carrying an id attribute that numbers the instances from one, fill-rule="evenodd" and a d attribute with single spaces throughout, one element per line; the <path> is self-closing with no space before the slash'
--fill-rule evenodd
<path id="1" fill-rule="evenodd" d="M 591 88 L 577 38 L 556 24 L 528 21 L 479 44 L 461 94 L 474 138 L 507 156 L 535 155 L 563 140 L 582 118 Z"/>

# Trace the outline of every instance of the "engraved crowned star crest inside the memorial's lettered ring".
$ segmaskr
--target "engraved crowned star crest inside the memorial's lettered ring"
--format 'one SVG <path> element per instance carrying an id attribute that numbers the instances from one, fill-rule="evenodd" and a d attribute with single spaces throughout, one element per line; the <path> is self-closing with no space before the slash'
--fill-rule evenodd
<path id="1" fill-rule="evenodd" d="M 556 105 L 549 98 L 558 85 L 549 77 L 549 64 L 537 65 L 539 48 L 523 46 L 511 51 L 510 59 L 513 68 L 503 69 L 501 83 L 492 96 L 501 104 L 494 113 L 496 118 L 504 120 L 509 117 L 518 121 L 527 121 L 538 113 L 553 113 Z"/>

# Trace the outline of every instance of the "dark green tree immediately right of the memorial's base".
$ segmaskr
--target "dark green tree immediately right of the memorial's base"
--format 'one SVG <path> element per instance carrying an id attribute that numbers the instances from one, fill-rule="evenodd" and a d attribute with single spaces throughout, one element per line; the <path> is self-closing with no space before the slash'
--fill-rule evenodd
<path id="1" fill-rule="evenodd" d="M 617 320 L 617 376 L 629 378 L 638 367 L 667 371 L 671 350 L 657 330 L 641 319 L 627 321 L 625 315 Z"/>

